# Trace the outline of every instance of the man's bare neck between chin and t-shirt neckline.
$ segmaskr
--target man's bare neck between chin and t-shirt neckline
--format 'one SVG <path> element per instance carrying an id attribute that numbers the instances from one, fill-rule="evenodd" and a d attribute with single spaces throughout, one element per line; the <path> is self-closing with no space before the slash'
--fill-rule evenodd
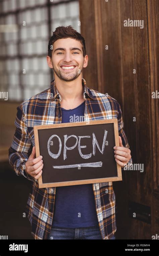
<path id="1" fill-rule="evenodd" d="M 55 74 L 55 85 L 63 101 L 83 99 L 82 74 L 70 82 L 61 80 Z"/>

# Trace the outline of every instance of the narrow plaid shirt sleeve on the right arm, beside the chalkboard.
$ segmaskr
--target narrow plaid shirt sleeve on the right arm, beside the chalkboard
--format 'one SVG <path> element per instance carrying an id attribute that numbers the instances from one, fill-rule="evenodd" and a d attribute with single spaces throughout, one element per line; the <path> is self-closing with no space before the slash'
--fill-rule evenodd
<path id="1" fill-rule="evenodd" d="M 122 145 L 125 147 L 125 148 L 130 148 L 129 147 L 129 144 L 128 144 L 128 141 L 127 141 L 127 138 L 126 138 L 126 135 L 125 135 L 125 132 L 123 130 L 123 118 L 122 118 L 122 111 L 121 111 L 121 107 L 120 107 L 120 104 L 118 103 L 118 131 L 119 131 L 119 136 L 121 137 L 122 139 Z M 129 168 L 129 166 L 133 164 L 133 159 L 130 158 L 130 160 L 128 161 L 127 165 L 126 165 L 126 168 Z M 122 169 L 124 167 L 121 167 Z"/>

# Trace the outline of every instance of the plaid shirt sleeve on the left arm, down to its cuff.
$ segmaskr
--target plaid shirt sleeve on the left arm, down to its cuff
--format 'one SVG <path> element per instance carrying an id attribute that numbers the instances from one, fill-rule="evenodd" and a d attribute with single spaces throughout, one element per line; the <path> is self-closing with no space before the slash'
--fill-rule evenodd
<path id="1" fill-rule="evenodd" d="M 22 104 L 17 107 L 15 118 L 15 133 L 11 147 L 9 148 L 9 163 L 17 175 L 23 175 L 28 180 L 34 181 L 34 177 L 25 171 L 25 163 L 32 150 L 32 141 L 27 134 L 26 118 L 22 111 Z"/>

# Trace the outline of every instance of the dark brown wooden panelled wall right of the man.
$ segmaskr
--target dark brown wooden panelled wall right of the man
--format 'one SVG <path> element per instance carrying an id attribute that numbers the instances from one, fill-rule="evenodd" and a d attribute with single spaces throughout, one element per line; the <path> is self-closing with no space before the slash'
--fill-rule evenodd
<path id="1" fill-rule="evenodd" d="M 113 184 L 117 238 L 152 239 L 159 234 L 159 99 L 152 99 L 152 92 L 159 91 L 159 4 L 157 0 L 79 2 L 89 56 L 83 77 L 88 87 L 120 103 L 133 163 L 144 164 L 143 172 L 124 171 L 123 181 Z M 124 27 L 128 19 L 144 20 L 144 28 Z M 130 201 L 151 207 L 151 224 L 128 216 Z"/>

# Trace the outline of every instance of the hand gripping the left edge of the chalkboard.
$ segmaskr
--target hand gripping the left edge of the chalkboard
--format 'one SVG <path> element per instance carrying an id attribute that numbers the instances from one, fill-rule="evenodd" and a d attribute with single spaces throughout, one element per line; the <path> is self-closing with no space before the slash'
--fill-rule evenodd
<path id="1" fill-rule="evenodd" d="M 32 153 L 25 163 L 25 170 L 36 180 L 38 180 L 42 174 L 42 168 L 44 166 L 42 158 L 42 156 L 36 158 L 35 147 L 33 147 Z"/>

